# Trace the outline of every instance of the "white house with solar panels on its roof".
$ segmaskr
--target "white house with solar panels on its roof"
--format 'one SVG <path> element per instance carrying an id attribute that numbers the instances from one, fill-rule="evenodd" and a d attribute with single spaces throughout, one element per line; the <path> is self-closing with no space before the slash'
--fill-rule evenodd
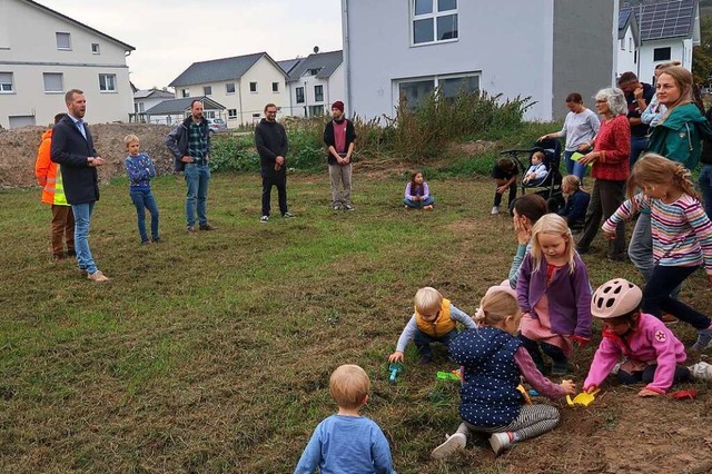
<path id="1" fill-rule="evenodd" d="M 692 49 L 700 45 L 698 0 L 629 0 L 621 11 L 632 11 L 639 21 L 637 68 L 629 70 L 643 82 L 654 82 L 655 66 L 662 62 L 679 60 L 692 70 Z"/>

